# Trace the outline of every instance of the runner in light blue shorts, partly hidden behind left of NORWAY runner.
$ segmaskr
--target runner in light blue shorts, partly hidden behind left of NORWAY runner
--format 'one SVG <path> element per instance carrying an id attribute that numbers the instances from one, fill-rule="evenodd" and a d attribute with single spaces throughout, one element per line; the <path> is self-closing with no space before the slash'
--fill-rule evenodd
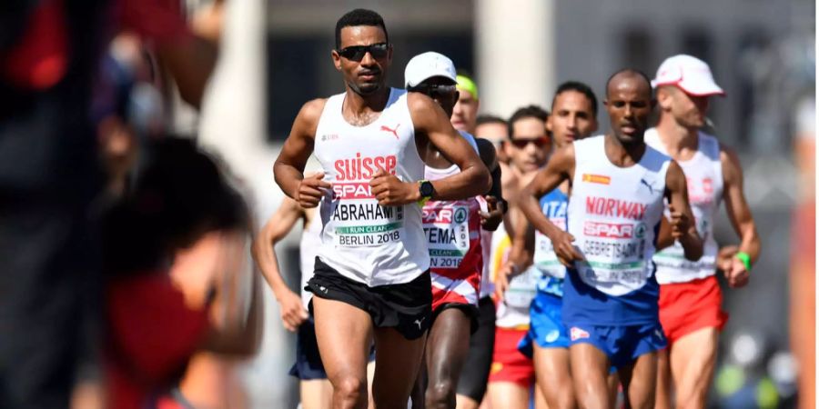
<path id="1" fill-rule="evenodd" d="M 558 86 L 546 122 L 556 148 L 561 149 L 597 130 L 597 97 L 589 85 L 569 81 Z M 541 212 L 566 229 L 569 182 L 541 196 Z M 569 332 L 561 321 L 563 278 L 566 268 L 558 261 L 549 238 L 529 226 L 516 229 L 515 245 L 534 247 L 533 263 L 540 270 L 538 292 L 531 302 L 529 333 L 520 349 L 533 357 L 538 387 L 552 409 L 575 407 L 569 367 Z"/>

